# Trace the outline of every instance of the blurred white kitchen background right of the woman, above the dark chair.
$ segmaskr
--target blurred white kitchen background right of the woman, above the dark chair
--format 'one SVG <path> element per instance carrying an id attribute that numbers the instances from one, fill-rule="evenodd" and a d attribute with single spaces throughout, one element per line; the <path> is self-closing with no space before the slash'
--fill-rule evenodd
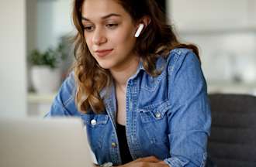
<path id="1" fill-rule="evenodd" d="M 255 0 L 167 2 L 179 39 L 199 46 L 209 90 L 255 95 Z"/>

